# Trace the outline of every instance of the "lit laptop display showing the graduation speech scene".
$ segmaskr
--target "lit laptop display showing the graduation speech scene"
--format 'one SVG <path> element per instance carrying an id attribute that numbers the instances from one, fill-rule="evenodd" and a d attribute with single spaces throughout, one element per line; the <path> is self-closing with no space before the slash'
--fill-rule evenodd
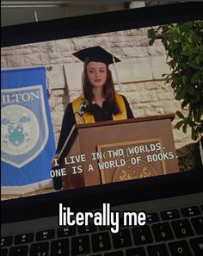
<path id="1" fill-rule="evenodd" d="M 2 200 L 200 168 L 202 21 L 135 14 L 2 47 Z"/>

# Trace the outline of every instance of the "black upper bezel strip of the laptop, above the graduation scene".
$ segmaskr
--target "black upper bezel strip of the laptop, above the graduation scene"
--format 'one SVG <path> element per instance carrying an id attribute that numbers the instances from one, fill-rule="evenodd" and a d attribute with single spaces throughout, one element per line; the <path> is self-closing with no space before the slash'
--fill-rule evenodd
<path id="1" fill-rule="evenodd" d="M 203 3 L 175 3 L 2 28 L 2 47 L 202 19 Z"/>

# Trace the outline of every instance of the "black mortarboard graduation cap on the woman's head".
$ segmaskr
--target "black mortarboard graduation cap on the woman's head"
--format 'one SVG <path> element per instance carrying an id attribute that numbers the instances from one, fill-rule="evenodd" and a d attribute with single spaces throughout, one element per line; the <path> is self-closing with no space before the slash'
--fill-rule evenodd
<path id="1" fill-rule="evenodd" d="M 73 53 L 73 55 L 82 60 L 85 64 L 90 61 L 102 62 L 107 65 L 113 64 L 114 62 L 120 62 L 120 59 L 114 57 L 113 54 L 108 53 L 102 47 L 88 47 Z"/>

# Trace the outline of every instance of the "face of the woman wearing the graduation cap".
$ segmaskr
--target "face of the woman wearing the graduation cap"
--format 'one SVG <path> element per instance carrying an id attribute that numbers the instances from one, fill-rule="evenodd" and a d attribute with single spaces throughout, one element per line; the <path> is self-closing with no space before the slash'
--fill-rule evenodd
<path id="1" fill-rule="evenodd" d="M 107 80 L 107 66 L 102 62 L 90 61 L 87 65 L 87 74 L 92 86 L 103 86 Z"/>

